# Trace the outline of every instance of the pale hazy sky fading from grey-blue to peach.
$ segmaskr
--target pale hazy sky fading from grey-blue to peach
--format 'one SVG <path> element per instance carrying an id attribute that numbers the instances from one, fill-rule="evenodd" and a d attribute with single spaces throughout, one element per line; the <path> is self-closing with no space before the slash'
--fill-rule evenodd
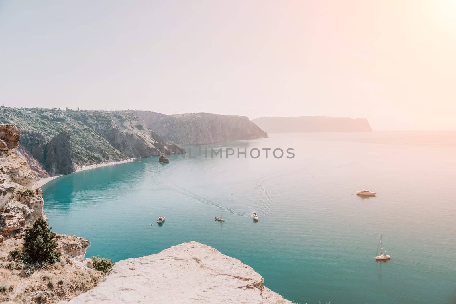
<path id="1" fill-rule="evenodd" d="M 0 0 L 0 104 L 456 130 L 453 0 Z"/>

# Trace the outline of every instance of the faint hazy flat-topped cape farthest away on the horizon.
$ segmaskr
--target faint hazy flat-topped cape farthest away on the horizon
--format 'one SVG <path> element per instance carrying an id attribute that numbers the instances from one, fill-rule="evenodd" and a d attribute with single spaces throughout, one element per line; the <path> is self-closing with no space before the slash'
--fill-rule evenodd
<path id="1" fill-rule="evenodd" d="M 269 133 L 372 132 L 372 128 L 365 118 L 295 116 L 260 117 L 252 121 Z"/>

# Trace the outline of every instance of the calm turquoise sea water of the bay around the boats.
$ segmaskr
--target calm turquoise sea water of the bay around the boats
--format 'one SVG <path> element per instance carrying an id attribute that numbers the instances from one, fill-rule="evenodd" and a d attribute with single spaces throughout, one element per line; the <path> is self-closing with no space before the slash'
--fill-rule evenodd
<path id="1" fill-rule="evenodd" d="M 269 135 L 207 147 L 295 158 L 187 154 L 62 176 L 43 187 L 49 223 L 115 261 L 201 242 L 300 303 L 456 302 L 456 133 Z M 386 263 L 373 259 L 381 232 Z"/>

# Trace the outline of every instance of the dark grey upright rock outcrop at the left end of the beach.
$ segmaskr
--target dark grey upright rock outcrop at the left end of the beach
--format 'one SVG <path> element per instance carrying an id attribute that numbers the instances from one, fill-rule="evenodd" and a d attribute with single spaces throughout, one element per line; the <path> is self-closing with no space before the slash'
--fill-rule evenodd
<path id="1" fill-rule="evenodd" d="M 76 171 L 73 164 L 71 136 L 63 131 L 54 136 L 45 147 L 45 162 L 49 175 L 70 174 Z"/>

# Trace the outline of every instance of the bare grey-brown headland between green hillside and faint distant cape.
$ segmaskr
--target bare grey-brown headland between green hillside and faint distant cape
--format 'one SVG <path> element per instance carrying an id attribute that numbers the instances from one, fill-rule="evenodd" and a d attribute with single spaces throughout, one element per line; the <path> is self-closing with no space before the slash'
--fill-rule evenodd
<path id="1" fill-rule="evenodd" d="M 233 139 L 265 138 L 268 134 L 246 116 L 211 113 L 166 115 L 133 111 L 145 124 L 176 144 L 213 144 Z"/>

